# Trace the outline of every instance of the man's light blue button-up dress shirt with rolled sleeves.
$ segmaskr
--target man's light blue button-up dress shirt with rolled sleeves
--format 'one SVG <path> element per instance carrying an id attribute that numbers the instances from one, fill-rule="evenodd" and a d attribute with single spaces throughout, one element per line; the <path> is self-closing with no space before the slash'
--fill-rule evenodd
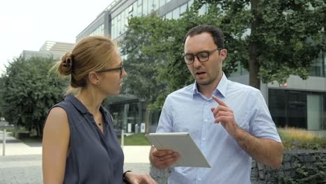
<path id="1" fill-rule="evenodd" d="M 261 91 L 231 82 L 223 74 L 212 94 L 233 110 L 242 129 L 281 142 Z M 196 82 L 167 96 L 156 132 L 189 132 L 212 167 L 172 168 L 169 183 L 251 183 L 251 157 L 220 123 L 214 123 L 210 108 L 217 106 L 199 93 Z"/>

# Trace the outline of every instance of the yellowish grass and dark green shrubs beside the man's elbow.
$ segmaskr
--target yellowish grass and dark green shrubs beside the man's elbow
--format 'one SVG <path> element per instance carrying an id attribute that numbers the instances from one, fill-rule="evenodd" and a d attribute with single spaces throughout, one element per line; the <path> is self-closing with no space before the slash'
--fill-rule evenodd
<path id="1" fill-rule="evenodd" d="M 305 184 L 326 182 L 326 137 L 319 137 L 300 128 L 278 128 L 290 162 L 273 171 L 277 183 Z M 296 155 L 298 150 L 316 150 L 312 155 Z M 318 151 L 317 151 L 318 150 Z M 295 152 L 289 152 L 295 151 Z M 294 154 L 293 154 L 294 153 Z M 286 166 L 286 164 L 290 164 Z M 285 174 L 284 174 L 285 173 Z"/>

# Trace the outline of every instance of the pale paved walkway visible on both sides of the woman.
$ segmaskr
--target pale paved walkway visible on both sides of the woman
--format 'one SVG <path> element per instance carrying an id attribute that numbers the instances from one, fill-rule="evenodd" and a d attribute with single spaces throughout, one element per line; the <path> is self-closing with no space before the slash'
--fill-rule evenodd
<path id="1" fill-rule="evenodd" d="M 6 138 L 6 155 L 3 156 L 3 132 L 0 130 L 0 184 L 42 183 L 42 145 L 24 144 Z M 125 169 L 148 174 L 150 146 L 124 146 Z"/>

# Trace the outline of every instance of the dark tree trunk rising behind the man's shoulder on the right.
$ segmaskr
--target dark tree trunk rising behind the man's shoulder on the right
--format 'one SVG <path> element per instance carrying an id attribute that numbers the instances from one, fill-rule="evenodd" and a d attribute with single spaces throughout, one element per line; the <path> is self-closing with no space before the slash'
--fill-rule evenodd
<path id="1" fill-rule="evenodd" d="M 259 0 L 251 0 L 251 13 L 254 20 L 251 22 L 251 42 L 249 43 L 249 85 L 256 89 L 261 89 L 261 80 L 258 79 L 259 63 L 257 53 L 257 26 L 258 11 L 257 4 Z"/>

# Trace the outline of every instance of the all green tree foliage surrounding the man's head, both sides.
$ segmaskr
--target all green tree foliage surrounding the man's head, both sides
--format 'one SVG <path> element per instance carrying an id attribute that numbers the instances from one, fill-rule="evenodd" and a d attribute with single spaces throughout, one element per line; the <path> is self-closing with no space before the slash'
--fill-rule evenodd
<path id="1" fill-rule="evenodd" d="M 205 3 L 208 13 L 199 15 Z M 178 20 L 134 17 L 123 43 L 123 53 L 128 54 L 125 63 L 130 63 L 134 82 L 126 87 L 142 98 L 150 97 L 150 102 L 156 99 L 152 107 L 160 109 L 167 94 L 194 82 L 182 59 L 183 38 L 199 24 L 212 24 L 224 31 L 226 75 L 241 65 L 249 70 L 250 85 L 258 89 L 261 80 L 283 84 L 289 75 L 306 79 L 313 59 L 326 50 L 325 10 L 320 0 L 198 0 Z M 153 70 L 148 72 L 145 66 Z"/>

